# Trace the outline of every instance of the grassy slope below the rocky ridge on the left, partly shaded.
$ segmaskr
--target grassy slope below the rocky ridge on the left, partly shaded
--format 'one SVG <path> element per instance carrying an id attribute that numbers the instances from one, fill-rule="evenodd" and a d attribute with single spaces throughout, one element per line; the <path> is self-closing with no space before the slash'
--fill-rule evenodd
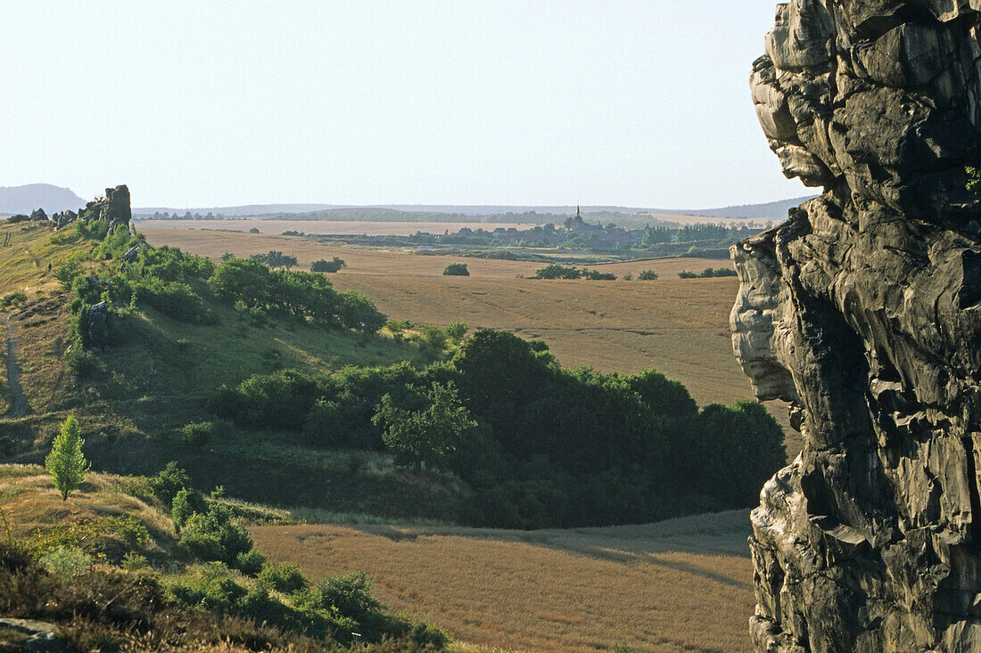
<path id="1" fill-rule="evenodd" d="M 383 335 L 275 321 L 257 326 L 221 304 L 209 306 L 216 324 L 178 322 L 152 308 L 124 316 L 110 353 L 94 357 L 83 377 L 69 369 L 69 295 L 47 271 L 81 260 L 86 274 L 105 275 L 114 262 L 92 261 L 96 243 L 48 226 L 0 225 L 0 297 L 24 293 L 8 307 L 27 413 L 10 417 L 6 367 L 0 366 L 0 460 L 38 463 L 57 426 L 74 414 L 93 468 L 152 474 L 169 460 L 202 488 L 225 485 L 243 498 L 306 504 L 349 512 L 438 515 L 452 486 L 421 483 L 395 470 L 390 457 L 307 449 L 263 431 L 248 442 L 230 433 L 207 446 L 187 446 L 178 429 L 209 418 L 204 400 L 223 383 L 280 369 L 329 373 L 349 365 L 427 362 L 431 347 Z M 3 326 L 3 324 L 0 324 Z M 292 438 L 295 440 L 295 438 Z M 301 474 L 298 474 L 301 472 Z"/>

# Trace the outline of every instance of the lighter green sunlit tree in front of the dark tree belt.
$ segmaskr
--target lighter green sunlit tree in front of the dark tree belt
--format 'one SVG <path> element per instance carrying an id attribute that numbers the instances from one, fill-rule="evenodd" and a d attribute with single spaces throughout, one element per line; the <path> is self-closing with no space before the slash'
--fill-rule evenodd
<path id="1" fill-rule="evenodd" d="M 445 385 L 433 383 L 422 401 L 418 390 L 411 386 L 406 386 L 405 390 L 407 397 L 416 399 L 416 403 L 423 406 L 416 410 L 405 409 L 391 394 L 386 394 L 372 423 L 384 429 L 382 440 L 387 447 L 410 460 L 419 475 L 423 461 L 439 463 L 477 427 L 477 423 L 471 418 L 470 411 L 460 405 L 452 381 Z"/>

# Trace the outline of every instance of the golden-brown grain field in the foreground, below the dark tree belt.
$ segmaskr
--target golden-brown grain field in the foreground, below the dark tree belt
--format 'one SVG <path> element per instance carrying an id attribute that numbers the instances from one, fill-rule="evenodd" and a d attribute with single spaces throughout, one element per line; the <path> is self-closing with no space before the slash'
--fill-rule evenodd
<path id="1" fill-rule="evenodd" d="M 251 528 L 313 578 L 364 570 L 390 608 L 478 650 L 749 651 L 749 514 L 569 530 Z"/>

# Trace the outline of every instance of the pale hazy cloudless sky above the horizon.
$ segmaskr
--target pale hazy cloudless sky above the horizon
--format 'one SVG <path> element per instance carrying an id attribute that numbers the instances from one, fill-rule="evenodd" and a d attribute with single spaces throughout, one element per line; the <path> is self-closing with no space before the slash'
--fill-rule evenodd
<path id="1" fill-rule="evenodd" d="M 175 207 L 802 195 L 749 100 L 774 6 L 9 2 L 0 185 Z"/>

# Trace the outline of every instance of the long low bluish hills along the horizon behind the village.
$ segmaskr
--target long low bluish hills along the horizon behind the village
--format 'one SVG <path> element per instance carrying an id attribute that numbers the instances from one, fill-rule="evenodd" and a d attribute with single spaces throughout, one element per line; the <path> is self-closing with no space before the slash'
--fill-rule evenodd
<path id="1" fill-rule="evenodd" d="M 793 199 L 767 202 L 765 204 L 746 204 L 729 206 L 719 209 L 647 209 L 625 206 L 594 206 L 584 205 L 584 214 L 661 214 L 675 216 L 702 216 L 705 218 L 734 218 L 744 220 L 784 220 L 787 210 L 799 206 L 801 202 L 810 199 L 797 197 Z M 173 207 L 140 207 L 132 210 L 133 215 L 146 217 L 155 213 L 199 214 L 208 213 L 217 217 L 254 218 L 260 216 L 301 216 L 300 220 L 391 220 L 414 222 L 425 220 L 439 222 L 439 215 L 446 215 L 452 221 L 458 221 L 460 216 L 483 217 L 506 216 L 507 214 L 522 216 L 529 221 L 525 214 L 538 213 L 546 216 L 572 216 L 576 213 L 575 205 L 567 206 L 503 206 L 503 205 L 455 205 L 455 204 L 248 204 L 243 206 L 183 208 Z M 385 216 L 390 212 L 390 216 Z M 312 215 L 316 214 L 316 215 Z M 407 214 L 420 214 L 411 216 Z M 370 218 L 368 216 L 371 216 Z M 296 219 L 296 218 L 294 218 Z M 549 219 L 543 220 L 547 222 Z"/>

